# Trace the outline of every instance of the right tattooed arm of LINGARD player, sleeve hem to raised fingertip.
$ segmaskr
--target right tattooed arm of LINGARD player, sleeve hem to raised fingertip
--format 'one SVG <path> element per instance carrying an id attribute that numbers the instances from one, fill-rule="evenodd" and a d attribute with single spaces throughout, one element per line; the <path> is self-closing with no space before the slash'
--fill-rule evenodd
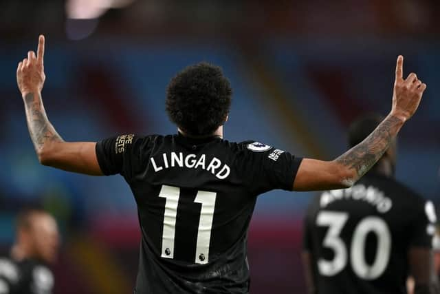
<path id="1" fill-rule="evenodd" d="M 375 165 L 406 120 L 416 112 L 426 84 L 411 73 L 403 78 L 404 57 L 397 58 L 390 114 L 365 140 L 332 161 L 304 159 L 298 169 L 294 190 L 325 190 L 351 187 Z"/>

